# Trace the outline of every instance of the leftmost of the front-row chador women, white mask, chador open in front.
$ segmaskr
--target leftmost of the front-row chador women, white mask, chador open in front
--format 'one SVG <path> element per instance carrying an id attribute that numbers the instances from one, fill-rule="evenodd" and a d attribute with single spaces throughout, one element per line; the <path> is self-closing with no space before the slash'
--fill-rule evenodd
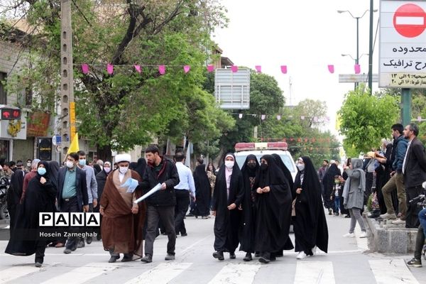
<path id="1" fill-rule="evenodd" d="M 244 180 L 235 161 L 234 154 L 225 156 L 224 164 L 219 168 L 214 184 L 212 214 L 214 219 L 213 257 L 224 260 L 224 251 L 229 251 L 229 258 L 235 258 L 239 244 L 239 226 L 241 210 L 238 209 L 244 197 Z"/>

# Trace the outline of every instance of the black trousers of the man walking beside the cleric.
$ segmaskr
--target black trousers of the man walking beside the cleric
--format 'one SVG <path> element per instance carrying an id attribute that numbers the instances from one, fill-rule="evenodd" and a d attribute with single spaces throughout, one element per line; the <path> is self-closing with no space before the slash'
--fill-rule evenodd
<path id="1" fill-rule="evenodd" d="M 165 234 L 168 236 L 167 253 L 175 254 L 176 233 L 175 233 L 175 206 L 152 206 L 147 207 L 147 227 L 145 236 L 145 254 L 153 256 L 154 240 L 156 236 L 158 221 L 161 220 L 165 227 Z"/>

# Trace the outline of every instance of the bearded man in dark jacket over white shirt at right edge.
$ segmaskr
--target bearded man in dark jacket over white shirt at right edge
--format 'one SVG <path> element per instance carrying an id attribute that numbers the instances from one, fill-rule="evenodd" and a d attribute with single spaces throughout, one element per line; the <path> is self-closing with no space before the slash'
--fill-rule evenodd
<path id="1" fill-rule="evenodd" d="M 403 161 L 404 185 L 407 195 L 407 218 L 406 228 L 417 228 L 420 225 L 418 214 L 420 208 L 417 202 L 410 200 L 422 193 L 422 183 L 426 180 L 426 155 L 425 147 L 417 139 L 419 128 L 415 124 L 408 124 L 404 129 L 404 137 L 409 140 L 407 153 Z"/>

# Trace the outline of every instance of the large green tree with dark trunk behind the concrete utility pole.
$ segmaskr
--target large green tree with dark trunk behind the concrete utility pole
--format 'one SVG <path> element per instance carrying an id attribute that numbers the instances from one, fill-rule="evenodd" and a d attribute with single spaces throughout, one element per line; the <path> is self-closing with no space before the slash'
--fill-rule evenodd
<path id="1" fill-rule="evenodd" d="M 16 85 L 32 87 L 52 105 L 58 99 L 60 0 L 15 2 L 38 28 L 33 51 L 39 58 L 23 72 L 21 80 L 28 84 Z M 226 24 L 217 1 L 74 0 L 72 11 L 78 131 L 96 143 L 100 158 L 162 133 L 198 141 L 233 126 L 231 116 L 202 89 L 205 50 L 213 46 L 209 33 Z M 91 65 L 88 75 L 79 63 Z M 106 63 L 114 65 L 114 74 L 106 72 Z M 141 74 L 133 64 L 144 66 Z M 157 65 L 168 66 L 165 75 Z M 183 65 L 190 65 L 190 72 L 185 74 Z"/>

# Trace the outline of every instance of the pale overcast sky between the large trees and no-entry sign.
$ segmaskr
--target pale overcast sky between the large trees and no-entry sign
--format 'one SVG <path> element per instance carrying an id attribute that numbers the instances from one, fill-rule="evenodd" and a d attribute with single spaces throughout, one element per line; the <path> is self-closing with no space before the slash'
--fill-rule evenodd
<path id="1" fill-rule="evenodd" d="M 327 104 L 330 117 L 325 129 L 337 133 L 336 112 L 342 107 L 344 94 L 354 83 L 339 83 L 339 74 L 354 74 L 356 58 L 356 19 L 370 8 L 369 0 L 278 1 L 222 0 L 228 10 L 229 25 L 217 29 L 214 41 L 223 55 L 235 65 L 255 68 L 275 77 L 284 92 L 286 104 L 303 99 L 320 99 Z M 374 1 L 374 9 L 380 1 Z M 378 12 L 373 13 L 373 39 Z M 359 19 L 359 64 L 368 73 L 369 13 Z M 373 74 L 378 72 L 378 35 L 373 52 Z M 362 56 L 361 56 L 362 55 Z M 288 66 L 284 75 L 281 65 Z M 327 65 L 334 65 L 331 74 Z M 373 83 L 373 92 L 378 84 Z"/>

